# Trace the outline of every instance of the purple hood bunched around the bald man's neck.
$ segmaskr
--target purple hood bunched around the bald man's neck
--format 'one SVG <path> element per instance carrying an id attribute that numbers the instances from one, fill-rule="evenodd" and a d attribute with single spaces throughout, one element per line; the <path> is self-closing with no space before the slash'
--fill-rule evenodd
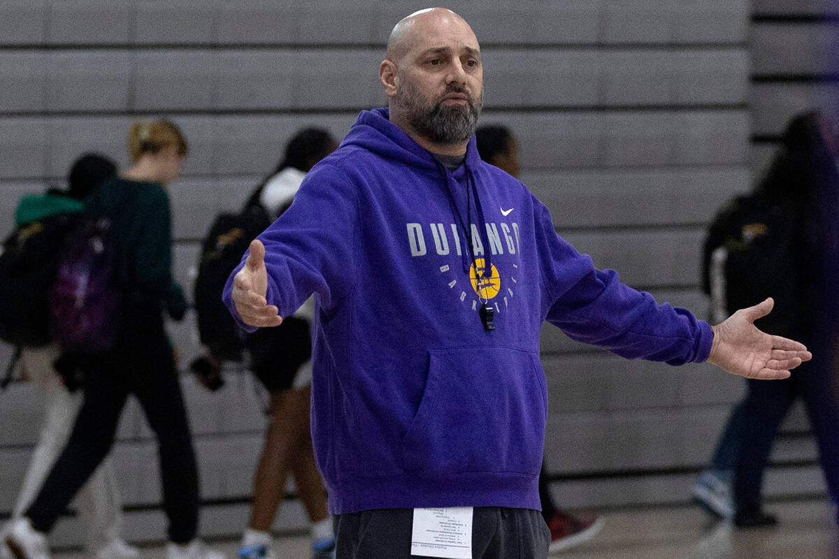
<path id="1" fill-rule="evenodd" d="M 434 155 L 415 142 L 402 128 L 390 122 L 390 113 L 386 108 L 361 111 L 358 120 L 341 142 L 341 146 L 350 145 L 412 166 L 430 169 L 437 169 L 439 166 Z M 467 168 L 477 168 L 481 164 L 474 134 L 469 138 L 465 163 Z"/>

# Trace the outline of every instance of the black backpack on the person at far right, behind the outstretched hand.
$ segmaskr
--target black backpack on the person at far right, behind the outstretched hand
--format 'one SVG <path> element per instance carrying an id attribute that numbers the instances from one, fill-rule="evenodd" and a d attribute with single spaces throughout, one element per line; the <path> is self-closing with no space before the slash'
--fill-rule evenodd
<path id="1" fill-rule="evenodd" d="M 758 328 L 795 335 L 802 320 L 796 230 L 791 208 L 766 204 L 758 196 L 739 198 L 717 215 L 706 241 L 704 271 L 712 303 L 724 304 L 730 314 L 771 297 L 774 308 L 758 319 Z"/>

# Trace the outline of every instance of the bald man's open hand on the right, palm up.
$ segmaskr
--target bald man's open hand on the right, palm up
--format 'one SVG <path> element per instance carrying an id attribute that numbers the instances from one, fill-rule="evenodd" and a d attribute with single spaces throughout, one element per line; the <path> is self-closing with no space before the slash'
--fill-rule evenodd
<path id="1" fill-rule="evenodd" d="M 772 298 L 753 307 L 741 308 L 722 323 L 711 327 L 714 341 L 708 363 L 748 379 L 785 379 L 789 370 L 812 359 L 804 344 L 772 336 L 759 330 L 754 321 L 769 314 Z"/>

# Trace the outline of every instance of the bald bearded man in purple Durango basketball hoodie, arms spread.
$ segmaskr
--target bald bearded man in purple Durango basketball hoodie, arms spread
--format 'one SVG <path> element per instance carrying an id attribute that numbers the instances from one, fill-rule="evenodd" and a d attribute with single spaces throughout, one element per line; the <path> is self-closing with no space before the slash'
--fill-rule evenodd
<path id="1" fill-rule="evenodd" d="M 629 358 L 783 378 L 805 347 L 771 300 L 711 328 L 594 267 L 548 210 L 482 162 L 481 49 L 443 8 L 400 21 L 362 111 L 253 241 L 224 300 L 245 329 L 315 293 L 312 437 L 339 559 L 545 557 L 539 330 Z"/>

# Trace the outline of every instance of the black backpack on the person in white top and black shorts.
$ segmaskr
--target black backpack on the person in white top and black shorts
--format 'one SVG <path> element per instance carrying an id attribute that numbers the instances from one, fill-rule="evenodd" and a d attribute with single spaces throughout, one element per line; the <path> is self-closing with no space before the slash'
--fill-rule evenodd
<path id="1" fill-rule="evenodd" d="M 201 243 L 193 293 L 198 334 L 201 344 L 222 360 L 242 360 L 241 329 L 221 302 L 221 292 L 250 242 L 272 223 L 268 211 L 259 203 L 263 187 L 264 183 L 254 190 L 242 211 L 217 215 Z"/>

